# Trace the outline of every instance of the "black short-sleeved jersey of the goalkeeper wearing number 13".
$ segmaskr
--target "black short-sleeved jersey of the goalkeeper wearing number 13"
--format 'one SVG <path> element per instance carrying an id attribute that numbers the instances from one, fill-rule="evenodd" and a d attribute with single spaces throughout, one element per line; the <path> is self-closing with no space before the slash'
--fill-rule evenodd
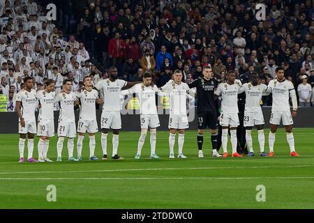
<path id="1" fill-rule="evenodd" d="M 214 78 L 209 80 L 204 78 L 195 79 L 194 82 L 188 84 L 190 89 L 196 87 L 197 90 L 197 112 L 216 112 L 215 105 L 215 89 L 218 81 Z"/>

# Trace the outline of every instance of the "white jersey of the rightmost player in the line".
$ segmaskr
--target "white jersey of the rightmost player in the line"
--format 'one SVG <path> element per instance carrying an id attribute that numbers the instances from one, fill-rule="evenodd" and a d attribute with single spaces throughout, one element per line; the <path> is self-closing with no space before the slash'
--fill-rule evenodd
<path id="1" fill-rule="evenodd" d="M 289 96 L 292 98 L 293 108 L 297 109 L 297 96 L 294 86 L 287 79 L 284 79 L 283 82 L 272 79 L 268 84 L 267 92 L 271 92 L 273 95 L 272 112 L 290 112 Z"/>

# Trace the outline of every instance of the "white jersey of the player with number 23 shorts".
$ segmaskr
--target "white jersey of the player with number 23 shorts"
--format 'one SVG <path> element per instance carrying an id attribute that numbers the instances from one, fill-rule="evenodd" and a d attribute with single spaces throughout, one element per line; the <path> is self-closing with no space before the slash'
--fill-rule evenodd
<path id="1" fill-rule="evenodd" d="M 253 86 L 251 83 L 246 83 L 241 86 L 240 92 L 244 91 L 246 93 L 245 112 L 262 111 L 262 108 L 260 107 L 260 101 L 262 100 L 262 95 L 266 89 L 267 85 L 265 84 L 257 84 L 257 86 Z"/>

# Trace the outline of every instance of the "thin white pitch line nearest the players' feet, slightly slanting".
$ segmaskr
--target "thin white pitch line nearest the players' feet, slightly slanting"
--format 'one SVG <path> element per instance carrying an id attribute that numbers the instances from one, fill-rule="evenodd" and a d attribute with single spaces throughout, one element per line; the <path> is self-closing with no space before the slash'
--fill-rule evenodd
<path id="1" fill-rule="evenodd" d="M 268 166 L 268 167 L 183 167 L 183 168 L 144 168 L 144 169 L 100 169 L 100 170 L 77 170 L 77 171 L 29 171 L 29 172 L 0 172 L 6 174 L 66 174 L 66 173 L 101 173 L 101 172 L 123 172 L 123 171 L 159 171 L 159 170 L 197 170 L 197 169 L 259 169 L 259 168 L 294 168 L 314 167 L 314 165 L 292 165 L 292 166 Z"/>

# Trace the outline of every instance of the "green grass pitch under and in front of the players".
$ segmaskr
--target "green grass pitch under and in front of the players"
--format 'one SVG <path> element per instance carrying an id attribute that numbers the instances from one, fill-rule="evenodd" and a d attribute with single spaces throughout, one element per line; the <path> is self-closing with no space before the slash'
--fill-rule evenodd
<path id="1" fill-rule="evenodd" d="M 265 133 L 268 152 L 268 130 Z M 275 157 L 258 156 L 254 130 L 255 157 L 210 157 L 207 133 L 205 158 L 198 159 L 196 132 L 188 131 L 184 145 L 188 159 L 170 160 L 168 135 L 157 133 L 160 160 L 147 159 L 149 134 L 142 159 L 134 160 L 140 132 L 122 132 L 119 155 L 126 160 L 88 161 L 85 137 L 83 162 L 66 162 L 65 141 L 61 163 L 18 164 L 18 135 L 0 134 L 0 208 L 314 208 L 314 129 L 294 130 L 300 157 L 290 157 L 283 129 L 276 134 Z M 96 155 L 101 157 L 100 134 L 96 139 Z M 38 139 L 36 158 L 37 143 Z M 56 143 L 54 137 L 48 153 L 54 161 Z M 176 140 L 176 157 L 177 150 Z M 108 152 L 112 152 L 111 133 Z M 47 202 L 47 185 L 56 186 L 57 202 Z M 265 202 L 256 201 L 257 185 L 266 188 Z"/>

